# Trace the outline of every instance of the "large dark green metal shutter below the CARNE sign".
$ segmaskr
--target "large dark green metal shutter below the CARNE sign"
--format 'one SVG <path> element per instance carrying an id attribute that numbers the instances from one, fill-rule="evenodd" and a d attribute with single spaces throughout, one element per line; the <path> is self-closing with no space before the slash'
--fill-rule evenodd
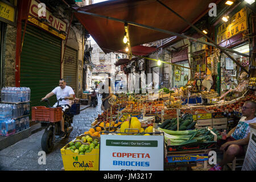
<path id="1" fill-rule="evenodd" d="M 20 86 L 31 89 L 31 106 L 44 105 L 41 98 L 59 86 L 60 60 L 61 40 L 27 24 L 20 55 Z M 49 101 L 55 104 L 56 96 Z"/>

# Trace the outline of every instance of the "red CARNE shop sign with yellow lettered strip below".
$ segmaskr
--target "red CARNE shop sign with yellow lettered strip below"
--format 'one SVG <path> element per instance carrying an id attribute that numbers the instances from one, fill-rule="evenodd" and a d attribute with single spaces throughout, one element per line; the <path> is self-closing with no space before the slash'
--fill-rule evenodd
<path id="1" fill-rule="evenodd" d="M 63 34 L 59 34 L 58 31 L 65 32 L 67 29 L 67 23 L 53 16 L 52 13 L 49 12 L 48 10 L 46 10 L 46 19 L 49 21 L 50 24 L 48 25 L 48 24 L 41 23 L 38 19 L 36 19 L 38 18 L 38 12 L 39 12 L 38 4 L 39 3 L 36 2 L 35 0 L 31 1 L 30 15 L 28 15 L 28 21 L 36 24 L 37 26 L 43 28 L 48 32 L 51 32 L 51 34 L 59 36 L 61 39 L 65 40 L 66 36 Z M 52 29 L 51 27 L 53 27 L 54 29 Z"/>

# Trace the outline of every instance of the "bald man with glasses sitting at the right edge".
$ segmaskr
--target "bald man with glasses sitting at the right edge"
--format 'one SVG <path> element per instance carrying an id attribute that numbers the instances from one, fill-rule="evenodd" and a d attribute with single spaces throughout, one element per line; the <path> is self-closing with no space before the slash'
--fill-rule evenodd
<path id="1" fill-rule="evenodd" d="M 219 164 L 210 168 L 210 171 L 221 171 L 225 164 L 231 163 L 236 156 L 245 155 L 243 146 L 246 146 L 250 140 L 249 123 L 255 123 L 256 103 L 254 101 L 246 101 L 242 106 L 243 117 L 226 135 L 225 143 L 221 145 L 220 150 L 225 151 L 223 160 Z"/>

